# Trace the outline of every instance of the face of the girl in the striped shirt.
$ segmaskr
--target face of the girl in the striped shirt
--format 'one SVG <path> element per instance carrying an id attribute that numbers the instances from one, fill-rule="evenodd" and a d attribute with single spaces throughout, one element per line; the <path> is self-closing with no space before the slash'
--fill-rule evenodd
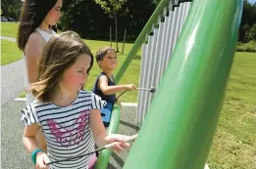
<path id="1" fill-rule="evenodd" d="M 90 62 L 91 59 L 88 55 L 78 56 L 76 63 L 64 72 L 60 80 L 61 85 L 69 91 L 80 90 L 86 84 Z"/>

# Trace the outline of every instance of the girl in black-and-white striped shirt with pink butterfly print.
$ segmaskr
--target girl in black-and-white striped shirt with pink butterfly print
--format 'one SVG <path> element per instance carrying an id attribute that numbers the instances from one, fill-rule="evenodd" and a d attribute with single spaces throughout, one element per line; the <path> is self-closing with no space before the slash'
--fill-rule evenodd
<path id="1" fill-rule="evenodd" d="M 75 32 L 63 32 L 46 44 L 39 60 L 38 82 L 28 90 L 36 100 L 22 110 L 22 121 L 26 125 L 24 145 L 37 169 L 90 168 L 89 163 L 95 163 L 95 154 L 46 163 L 90 152 L 95 143 L 103 147 L 117 142 L 112 149 L 117 152 L 129 147 L 124 142 L 126 136 L 106 134 L 99 110 L 106 102 L 80 90 L 92 64 L 90 49 Z M 47 154 L 38 148 L 35 139 L 40 128 L 47 143 Z"/>

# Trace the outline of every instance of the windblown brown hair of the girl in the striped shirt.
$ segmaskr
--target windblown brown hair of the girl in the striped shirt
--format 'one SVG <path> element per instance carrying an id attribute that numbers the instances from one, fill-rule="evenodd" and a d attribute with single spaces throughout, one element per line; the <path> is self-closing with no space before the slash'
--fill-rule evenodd
<path id="1" fill-rule="evenodd" d="M 27 91 L 32 92 L 38 101 L 49 102 L 63 73 L 76 63 L 81 54 L 91 58 L 89 71 L 93 65 L 93 55 L 76 32 L 66 31 L 53 36 L 44 47 L 39 60 L 38 82 L 31 84 Z"/>

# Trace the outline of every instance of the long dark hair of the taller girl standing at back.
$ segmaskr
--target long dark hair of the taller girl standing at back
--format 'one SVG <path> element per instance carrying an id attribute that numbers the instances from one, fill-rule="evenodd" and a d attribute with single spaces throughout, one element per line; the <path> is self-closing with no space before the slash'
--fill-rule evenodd
<path id="1" fill-rule="evenodd" d="M 29 35 L 45 19 L 57 0 L 26 0 L 24 1 L 18 29 L 18 47 L 24 50 Z"/>

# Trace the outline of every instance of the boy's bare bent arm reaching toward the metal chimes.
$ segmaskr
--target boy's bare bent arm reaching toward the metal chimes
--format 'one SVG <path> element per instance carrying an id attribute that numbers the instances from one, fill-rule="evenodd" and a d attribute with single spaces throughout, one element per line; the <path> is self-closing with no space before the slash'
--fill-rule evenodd
<path id="1" fill-rule="evenodd" d="M 116 94 L 118 92 L 122 92 L 124 90 L 135 90 L 136 89 L 136 86 L 133 84 L 108 86 L 108 78 L 105 75 L 103 75 L 99 78 L 98 85 L 104 95 L 114 95 L 114 94 Z"/>

